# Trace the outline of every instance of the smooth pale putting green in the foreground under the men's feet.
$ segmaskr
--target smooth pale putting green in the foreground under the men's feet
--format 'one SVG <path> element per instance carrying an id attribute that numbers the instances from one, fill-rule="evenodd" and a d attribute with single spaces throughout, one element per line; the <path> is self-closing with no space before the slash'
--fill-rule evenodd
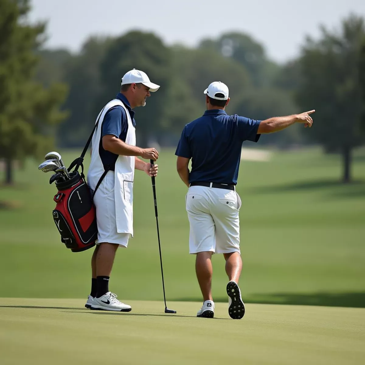
<path id="1" fill-rule="evenodd" d="M 80 299 L 0 299 L 1 364 L 362 364 L 363 308 L 248 304 L 231 320 L 217 303 L 132 301 L 129 313 L 90 311 Z M 362 359 L 362 360 L 361 360 Z"/>

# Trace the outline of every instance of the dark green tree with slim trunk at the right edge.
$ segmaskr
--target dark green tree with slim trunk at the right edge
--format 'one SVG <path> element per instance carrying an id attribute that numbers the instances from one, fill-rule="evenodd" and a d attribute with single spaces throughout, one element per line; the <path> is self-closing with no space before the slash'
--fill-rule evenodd
<path id="1" fill-rule="evenodd" d="M 364 19 L 350 15 L 341 31 L 322 27 L 318 41 L 307 38 L 299 59 L 301 80 L 297 103 L 301 110 L 316 109 L 310 135 L 327 151 L 341 152 L 344 183 L 351 181 L 351 151 L 364 142 L 360 49 L 365 36 Z"/>

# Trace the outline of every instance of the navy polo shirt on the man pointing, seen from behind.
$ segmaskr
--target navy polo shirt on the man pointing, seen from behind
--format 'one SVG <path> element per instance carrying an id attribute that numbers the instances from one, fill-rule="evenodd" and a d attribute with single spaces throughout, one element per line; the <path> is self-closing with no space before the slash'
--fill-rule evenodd
<path id="1" fill-rule="evenodd" d="M 258 141 L 260 122 L 212 109 L 188 123 L 175 154 L 192 159 L 189 183 L 237 184 L 242 142 Z"/>

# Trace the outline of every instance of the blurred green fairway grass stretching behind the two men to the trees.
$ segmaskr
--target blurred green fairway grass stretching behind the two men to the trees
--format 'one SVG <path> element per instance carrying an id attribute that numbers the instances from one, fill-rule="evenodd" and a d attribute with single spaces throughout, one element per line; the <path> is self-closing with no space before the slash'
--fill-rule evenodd
<path id="1" fill-rule="evenodd" d="M 80 151 L 62 153 L 66 163 Z M 172 150 L 158 160 L 157 203 L 168 300 L 200 300 L 188 254 L 186 188 Z M 51 216 L 55 186 L 28 160 L 14 187 L 0 188 L 0 295 L 85 298 L 92 250 L 71 253 Z M 86 163 L 87 165 L 87 163 Z M 243 161 L 240 281 L 247 302 L 365 307 L 365 151 L 354 183 L 338 183 L 341 161 L 318 150 L 275 153 L 270 162 Z M 161 300 L 161 273 L 150 179 L 135 176 L 134 230 L 118 251 L 111 289 L 122 298 Z M 19 207 L 17 208 L 17 205 Z M 213 257 L 215 300 L 226 301 L 223 257 Z M 4 278 L 6 278 L 4 280 Z"/>

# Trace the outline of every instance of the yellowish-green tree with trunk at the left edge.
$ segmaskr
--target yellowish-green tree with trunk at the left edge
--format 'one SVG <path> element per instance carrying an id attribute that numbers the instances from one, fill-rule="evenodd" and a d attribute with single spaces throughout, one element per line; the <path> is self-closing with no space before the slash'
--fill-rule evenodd
<path id="1" fill-rule="evenodd" d="M 26 22 L 28 0 L 0 2 L 0 158 L 5 160 L 5 183 L 12 183 L 12 161 L 40 156 L 52 147 L 50 126 L 65 113 L 59 111 L 66 87 L 44 89 L 33 81 L 44 24 Z"/>

